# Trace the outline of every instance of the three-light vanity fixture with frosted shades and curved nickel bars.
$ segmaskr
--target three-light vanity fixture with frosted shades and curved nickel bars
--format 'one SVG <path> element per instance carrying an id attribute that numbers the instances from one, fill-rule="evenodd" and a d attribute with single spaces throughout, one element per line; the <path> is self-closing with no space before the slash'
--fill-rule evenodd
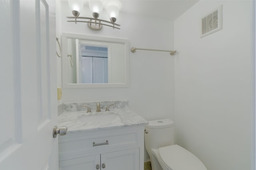
<path id="1" fill-rule="evenodd" d="M 80 12 L 82 12 L 85 0 L 68 0 L 68 5 L 72 10 L 72 14 L 74 17 L 67 17 L 69 19 L 68 22 L 86 22 L 88 27 L 93 30 L 102 29 L 103 25 L 108 27 L 113 27 L 113 29 L 120 29 L 117 26 L 121 26 L 116 23 L 116 19 L 119 16 L 119 10 L 121 8 L 121 2 L 119 0 L 88 0 L 89 9 L 92 12 L 93 18 L 90 17 L 80 17 Z M 98 19 L 100 13 L 104 8 L 108 13 L 110 21 Z"/>

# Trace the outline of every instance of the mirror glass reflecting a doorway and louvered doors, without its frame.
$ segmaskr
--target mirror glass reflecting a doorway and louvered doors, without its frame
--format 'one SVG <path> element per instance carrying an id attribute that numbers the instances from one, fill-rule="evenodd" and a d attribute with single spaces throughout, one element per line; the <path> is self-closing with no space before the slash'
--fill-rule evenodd
<path id="1" fill-rule="evenodd" d="M 68 38 L 68 55 L 68 83 L 125 82 L 123 43 Z"/>

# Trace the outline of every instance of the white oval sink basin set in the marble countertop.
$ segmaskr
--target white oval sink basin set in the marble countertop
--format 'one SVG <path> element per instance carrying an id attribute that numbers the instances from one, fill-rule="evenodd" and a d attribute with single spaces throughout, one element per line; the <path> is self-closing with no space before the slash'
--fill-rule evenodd
<path id="1" fill-rule="evenodd" d="M 97 113 L 95 115 L 80 115 L 77 117 L 78 123 L 104 123 L 120 121 L 121 118 L 117 113 Z"/>

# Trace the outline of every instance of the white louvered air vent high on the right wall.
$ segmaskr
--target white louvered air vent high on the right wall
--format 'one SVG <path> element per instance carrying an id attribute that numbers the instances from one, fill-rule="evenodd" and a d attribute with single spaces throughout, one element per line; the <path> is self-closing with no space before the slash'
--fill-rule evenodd
<path id="1" fill-rule="evenodd" d="M 201 38 L 222 29 L 222 5 L 202 18 Z"/>

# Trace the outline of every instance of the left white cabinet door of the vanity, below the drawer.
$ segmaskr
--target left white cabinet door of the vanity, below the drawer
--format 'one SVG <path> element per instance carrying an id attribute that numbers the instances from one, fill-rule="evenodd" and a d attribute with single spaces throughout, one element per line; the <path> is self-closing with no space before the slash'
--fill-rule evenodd
<path id="1" fill-rule="evenodd" d="M 63 160 L 59 162 L 60 170 L 96 170 L 100 167 L 100 155 Z"/>

